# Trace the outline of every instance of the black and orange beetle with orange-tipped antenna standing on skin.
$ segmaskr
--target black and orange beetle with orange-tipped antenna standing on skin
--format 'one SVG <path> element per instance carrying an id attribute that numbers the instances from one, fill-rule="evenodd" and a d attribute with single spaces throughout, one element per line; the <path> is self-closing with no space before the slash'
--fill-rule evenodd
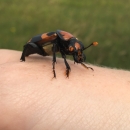
<path id="1" fill-rule="evenodd" d="M 70 66 L 66 60 L 66 55 L 72 55 L 74 59 L 74 63 L 80 63 L 87 69 L 92 69 L 91 67 L 87 67 L 83 62 L 86 59 L 86 56 L 83 54 L 83 51 L 88 47 L 94 45 L 96 46 L 98 43 L 93 42 L 89 46 L 84 47 L 83 43 L 79 41 L 76 37 L 74 37 L 71 33 L 56 30 L 54 32 L 47 32 L 37 36 L 32 37 L 23 47 L 23 52 L 20 60 L 25 61 L 25 57 L 31 54 L 39 54 L 42 56 L 48 56 L 49 53 L 44 49 L 48 45 L 52 45 L 52 69 L 54 78 L 56 78 L 55 72 L 55 63 L 56 63 L 56 53 L 60 52 L 62 58 L 64 59 L 64 63 L 66 66 L 66 76 L 69 77 Z"/>

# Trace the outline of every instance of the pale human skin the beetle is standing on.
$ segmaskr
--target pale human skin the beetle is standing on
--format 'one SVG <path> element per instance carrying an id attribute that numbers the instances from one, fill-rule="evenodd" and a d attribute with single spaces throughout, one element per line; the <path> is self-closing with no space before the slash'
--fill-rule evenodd
<path id="1" fill-rule="evenodd" d="M 0 50 L 0 130 L 130 130 L 130 72 Z"/>

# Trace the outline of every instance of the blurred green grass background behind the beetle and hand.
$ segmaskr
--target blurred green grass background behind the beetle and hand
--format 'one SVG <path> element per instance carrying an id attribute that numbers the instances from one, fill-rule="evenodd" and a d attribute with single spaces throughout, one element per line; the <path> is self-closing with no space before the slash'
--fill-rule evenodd
<path id="1" fill-rule="evenodd" d="M 87 62 L 130 70 L 130 0 L 0 0 L 0 48 L 22 50 L 32 37 L 65 30 L 85 46 Z M 4 58 L 4 56 L 3 56 Z"/>

